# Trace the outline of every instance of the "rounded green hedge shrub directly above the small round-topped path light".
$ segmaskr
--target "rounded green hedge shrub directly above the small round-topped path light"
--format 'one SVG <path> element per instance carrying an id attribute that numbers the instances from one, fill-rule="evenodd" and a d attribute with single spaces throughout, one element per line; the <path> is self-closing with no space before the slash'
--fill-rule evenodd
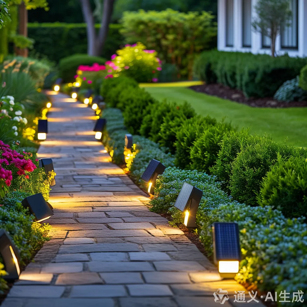
<path id="1" fill-rule="evenodd" d="M 125 97 L 125 110 L 123 111 L 124 123 L 131 134 L 137 134 L 140 130 L 142 119 L 151 105 L 157 102 L 144 89 L 139 87 Z"/>

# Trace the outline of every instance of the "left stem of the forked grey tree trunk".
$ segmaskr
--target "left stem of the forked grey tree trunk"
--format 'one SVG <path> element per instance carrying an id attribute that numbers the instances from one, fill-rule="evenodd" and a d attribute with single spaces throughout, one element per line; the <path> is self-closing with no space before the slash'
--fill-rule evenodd
<path id="1" fill-rule="evenodd" d="M 95 22 L 91 10 L 91 4 L 89 0 L 80 0 L 80 2 L 87 29 L 87 54 L 91 56 L 96 56 L 98 54 L 96 51 Z"/>

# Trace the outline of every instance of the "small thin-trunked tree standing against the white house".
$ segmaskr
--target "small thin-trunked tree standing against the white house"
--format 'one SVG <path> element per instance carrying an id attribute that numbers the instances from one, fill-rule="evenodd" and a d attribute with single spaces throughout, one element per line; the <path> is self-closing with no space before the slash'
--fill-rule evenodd
<path id="1" fill-rule="evenodd" d="M 256 32 L 270 37 L 272 57 L 275 56 L 276 37 L 289 25 L 291 10 L 289 0 L 259 0 L 254 6 L 257 17 L 252 26 Z"/>

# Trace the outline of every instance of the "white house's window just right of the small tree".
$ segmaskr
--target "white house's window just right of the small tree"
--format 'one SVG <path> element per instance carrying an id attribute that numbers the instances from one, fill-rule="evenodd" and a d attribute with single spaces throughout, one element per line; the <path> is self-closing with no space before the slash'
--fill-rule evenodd
<path id="1" fill-rule="evenodd" d="M 290 19 L 290 25 L 283 27 L 281 31 L 281 47 L 282 48 L 298 48 L 298 0 L 290 0 L 290 10 L 292 11 L 292 16 Z"/>

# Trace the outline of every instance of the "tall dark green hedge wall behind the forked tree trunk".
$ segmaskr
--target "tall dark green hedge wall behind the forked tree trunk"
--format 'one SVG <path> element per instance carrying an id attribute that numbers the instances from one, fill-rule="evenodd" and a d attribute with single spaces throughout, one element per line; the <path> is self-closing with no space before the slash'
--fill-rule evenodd
<path id="1" fill-rule="evenodd" d="M 99 24 L 95 25 L 97 31 Z M 111 24 L 106 45 L 101 56 L 109 59 L 123 43 L 119 33 L 122 26 Z M 28 23 L 28 36 L 35 40 L 34 52 L 58 62 L 74 53 L 87 53 L 85 23 Z M 52 48 L 51 48 L 52 47 Z"/>

